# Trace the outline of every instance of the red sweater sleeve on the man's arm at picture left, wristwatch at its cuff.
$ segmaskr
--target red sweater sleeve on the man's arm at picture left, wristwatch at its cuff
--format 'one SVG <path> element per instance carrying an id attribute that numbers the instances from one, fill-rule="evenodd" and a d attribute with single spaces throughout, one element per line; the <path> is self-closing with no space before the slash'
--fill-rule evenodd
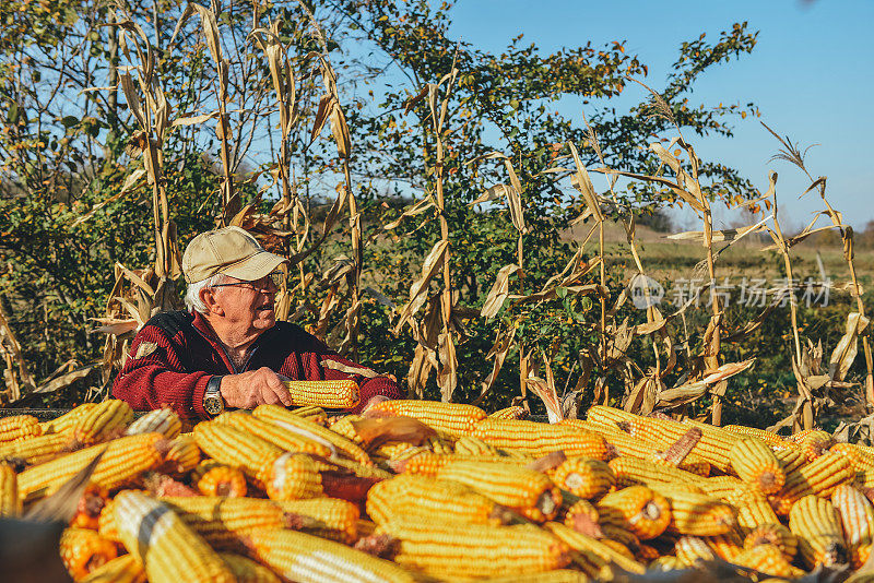
<path id="1" fill-rule="evenodd" d="M 209 418 L 203 392 L 211 374 L 188 372 L 167 333 L 146 324 L 131 343 L 130 357 L 113 383 L 113 395 L 134 411 L 169 407 L 186 419 Z"/>

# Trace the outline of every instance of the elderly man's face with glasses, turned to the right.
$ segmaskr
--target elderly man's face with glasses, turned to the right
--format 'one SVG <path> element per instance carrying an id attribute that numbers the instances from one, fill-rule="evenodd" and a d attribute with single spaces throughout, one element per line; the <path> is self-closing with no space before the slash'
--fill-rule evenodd
<path id="1" fill-rule="evenodd" d="M 276 285 L 269 275 L 256 282 L 227 277 L 214 293 L 225 322 L 245 335 L 258 335 L 276 323 Z"/>

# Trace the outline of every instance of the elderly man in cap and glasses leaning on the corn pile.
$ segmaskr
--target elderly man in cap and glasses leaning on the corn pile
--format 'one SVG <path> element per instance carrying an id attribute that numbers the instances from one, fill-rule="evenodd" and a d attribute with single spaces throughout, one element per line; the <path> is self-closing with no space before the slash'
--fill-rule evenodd
<path id="1" fill-rule="evenodd" d="M 145 323 L 113 394 L 134 409 L 169 406 L 185 418 L 209 418 L 225 407 L 292 405 L 284 379 L 353 379 L 361 389 L 353 412 L 400 398 L 394 380 L 276 321 L 276 270 L 285 261 L 239 227 L 194 237 L 182 257 L 190 311 L 158 313 Z"/>

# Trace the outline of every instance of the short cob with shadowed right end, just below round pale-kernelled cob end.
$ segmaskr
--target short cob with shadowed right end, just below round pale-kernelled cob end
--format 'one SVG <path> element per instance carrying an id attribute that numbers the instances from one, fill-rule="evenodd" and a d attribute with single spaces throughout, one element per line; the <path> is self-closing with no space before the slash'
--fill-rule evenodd
<path id="1" fill-rule="evenodd" d="M 295 528 L 321 538 L 351 545 L 358 537 L 358 507 L 336 498 L 275 502 Z"/>

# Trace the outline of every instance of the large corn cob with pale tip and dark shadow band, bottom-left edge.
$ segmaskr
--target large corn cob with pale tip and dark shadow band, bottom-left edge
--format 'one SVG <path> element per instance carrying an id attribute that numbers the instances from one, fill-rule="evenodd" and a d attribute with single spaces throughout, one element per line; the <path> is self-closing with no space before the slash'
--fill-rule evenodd
<path id="1" fill-rule="evenodd" d="M 145 568 L 150 583 L 234 582 L 221 557 L 169 507 L 135 491 L 120 492 L 115 502 L 121 542 Z"/>

